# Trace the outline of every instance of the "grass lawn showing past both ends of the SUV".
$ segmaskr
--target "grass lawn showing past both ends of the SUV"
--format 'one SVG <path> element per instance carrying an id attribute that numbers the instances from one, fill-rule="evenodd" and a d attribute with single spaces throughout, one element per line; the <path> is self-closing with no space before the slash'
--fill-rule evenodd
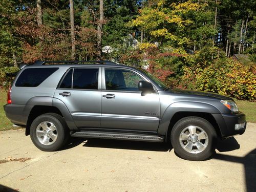
<path id="1" fill-rule="evenodd" d="M 0 131 L 12 130 L 11 121 L 5 116 L 3 105 L 6 104 L 6 91 L 0 90 Z M 236 100 L 239 110 L 246 115 L 248 122 L 256 122 L 256 102 Z"/>

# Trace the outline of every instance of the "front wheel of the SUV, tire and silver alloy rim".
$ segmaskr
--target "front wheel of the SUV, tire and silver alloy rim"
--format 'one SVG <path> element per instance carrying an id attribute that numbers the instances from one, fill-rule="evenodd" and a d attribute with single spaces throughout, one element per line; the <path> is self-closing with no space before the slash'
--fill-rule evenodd
<path id="1" fill-rule="evenodd" d="M 215 152 L 217 134 L 207 120 L 200 117 L 185 117 L 175 123 L 170 141 L 174 151 L 181 158 L 203 161 Z"/>

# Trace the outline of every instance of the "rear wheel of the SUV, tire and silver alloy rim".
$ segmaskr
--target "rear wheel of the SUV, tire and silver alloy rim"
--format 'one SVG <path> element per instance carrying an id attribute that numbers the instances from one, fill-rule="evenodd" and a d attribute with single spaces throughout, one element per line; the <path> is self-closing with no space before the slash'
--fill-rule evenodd
<path id="1" fill-rule="evenodd" d="M 55 113 L 36 117 L 30 126 L 30 137 L 41 151 L 59 150 L 69 139 L 68 127 L 63 118 Z"/>

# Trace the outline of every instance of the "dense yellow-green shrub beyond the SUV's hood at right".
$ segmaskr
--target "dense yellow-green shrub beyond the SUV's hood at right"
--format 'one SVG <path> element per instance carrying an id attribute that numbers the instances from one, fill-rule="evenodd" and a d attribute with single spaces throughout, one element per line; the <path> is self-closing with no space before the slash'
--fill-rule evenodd
<path id="1" fill-rule="evenodd" d="M 180 87 L 255 100 L 256 67 L 244 66 L 228 58 L 213 60 L 207 67 L 183 67 Z"/>

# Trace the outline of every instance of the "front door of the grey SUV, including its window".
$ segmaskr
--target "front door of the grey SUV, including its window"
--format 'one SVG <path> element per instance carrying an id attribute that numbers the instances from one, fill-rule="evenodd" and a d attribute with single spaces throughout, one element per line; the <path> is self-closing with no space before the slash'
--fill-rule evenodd
<path id="1" fill-rule="evenodd" d="M 141 95 L 138 82 L 143 77 L 129 69 L 105 68 L 102 72 L 101 128 L 157 131 L 159 95 Z"/>

